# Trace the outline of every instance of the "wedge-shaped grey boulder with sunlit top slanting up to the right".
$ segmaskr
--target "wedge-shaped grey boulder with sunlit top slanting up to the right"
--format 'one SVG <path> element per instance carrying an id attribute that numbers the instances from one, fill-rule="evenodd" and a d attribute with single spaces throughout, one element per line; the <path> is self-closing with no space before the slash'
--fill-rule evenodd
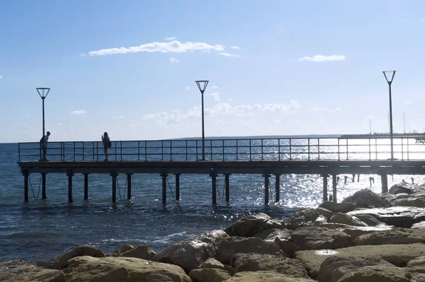
<path id="1" fill-rule="evenodd" d="M 229 237 L 222 230 L 212 230 L 162 249 L 152 258 L 155 262 L 166 262 L 181 266 L 187 273 L 215 254 L 218 242 Z"/>

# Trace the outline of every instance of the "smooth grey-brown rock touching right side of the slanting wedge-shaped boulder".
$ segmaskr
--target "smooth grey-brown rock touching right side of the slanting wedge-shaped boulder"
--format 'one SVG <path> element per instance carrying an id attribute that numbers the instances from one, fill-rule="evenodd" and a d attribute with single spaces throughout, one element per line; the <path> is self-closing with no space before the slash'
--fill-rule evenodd
<path id="1" fill-rule="evenodd" d="M 274 242 L 264 241 L 256 237 L 228 237 L 223 239 L 217 246 L 215 258 L 223 264 L 229 264 L 233 254 L 283 254 Z"/>

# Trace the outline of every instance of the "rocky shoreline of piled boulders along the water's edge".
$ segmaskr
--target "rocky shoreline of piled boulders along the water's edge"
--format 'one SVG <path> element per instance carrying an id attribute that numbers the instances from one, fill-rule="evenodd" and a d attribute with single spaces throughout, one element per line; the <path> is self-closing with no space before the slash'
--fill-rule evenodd
<path id="1" fill-rule="evenodd" d="M 246 216 L 155 253 L 75 247 L 36 266 L 0 262 L 0 281 L 424 282 L 425 185 L 369 189 L 288 220 Z"/>

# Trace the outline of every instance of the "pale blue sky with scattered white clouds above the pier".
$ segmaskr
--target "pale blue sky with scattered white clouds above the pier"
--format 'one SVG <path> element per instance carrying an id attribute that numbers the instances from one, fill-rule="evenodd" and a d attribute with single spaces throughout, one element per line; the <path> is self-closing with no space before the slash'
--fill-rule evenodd
<path id="1" fill-rule="evenodd" d="M 0 142 L 425 130 L 425 1 L 0 2 Z M 405 119 L 403 119 L 403 113 Z M 370 121 L 370 122 L 369 122 Z"/>

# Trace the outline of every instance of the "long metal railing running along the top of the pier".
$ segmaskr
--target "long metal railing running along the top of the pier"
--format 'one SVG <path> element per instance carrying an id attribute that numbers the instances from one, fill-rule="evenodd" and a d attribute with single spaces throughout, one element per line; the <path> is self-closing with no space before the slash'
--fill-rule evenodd
<path id="1" fill-rule="evenodd" d="M 397 160 L 425 160 L 425 144 L 414 136 L 395 137 Z M 390 139 L 206 139 L 205 160 L 386 160 L 390 158 Z M 40 143 L 18 143 L 21 161 L 40 160 Z M 101 141 L 49 142 L 47 158 L 55 161 L 104 160 Z M 157 141 L 112 141 L 108 160 L 152 161 L 202 158 L 202 141 L 176 139 Z"/>

